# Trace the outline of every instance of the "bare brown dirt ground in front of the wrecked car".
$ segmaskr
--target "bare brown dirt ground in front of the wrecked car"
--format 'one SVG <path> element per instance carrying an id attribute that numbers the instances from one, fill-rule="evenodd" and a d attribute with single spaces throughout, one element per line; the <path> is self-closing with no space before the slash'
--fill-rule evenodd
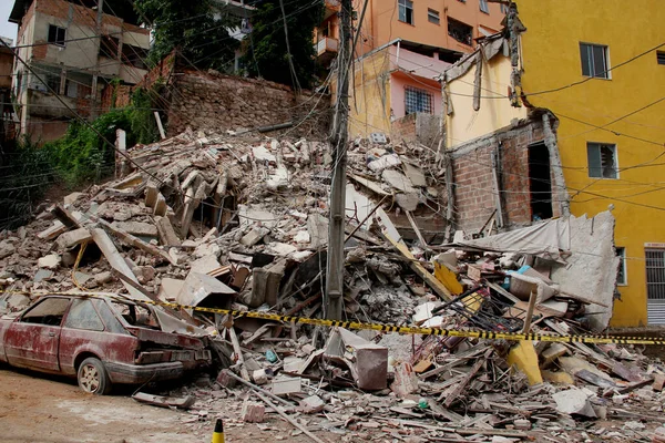
<path id="1" fill-rule="evenodd" d="M 209 442 L 217 414 L 194 410 L 173 411 L 136 403 L 131 390 L 108 396 L 89 395 L 75 380 L 0 367 L 0 441 L 2 442 L 109 442 L 190 443 Z M 237 404 L 226 405 L 222 416 L 226 442 L 310 442 L 294 435 L 295 429 L 276 415 L 266 423 L 241 424 Z M 200 418 L 205 414 L 205 416 Z M 332 441 L 325 432 L 316 435 Z M 338 440 L 338 437 L 337 437 Z"/>

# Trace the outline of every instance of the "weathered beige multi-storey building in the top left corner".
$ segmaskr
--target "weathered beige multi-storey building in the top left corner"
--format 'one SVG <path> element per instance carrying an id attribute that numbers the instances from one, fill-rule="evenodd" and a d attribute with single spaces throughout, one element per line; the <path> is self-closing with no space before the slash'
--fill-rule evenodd
<path id="1" fill-rule="evenodd" d="M 105 84 L 114 79 L 135 84 L 147 72 L 150 31 L 109 8 L 16 0 L 9 21 L 19 24 L 16 50 L 21 60 L 12 74 L 17 113 L 21 133 L 34 141 L 62 136 L 76 114 L 94 119 Z"/>

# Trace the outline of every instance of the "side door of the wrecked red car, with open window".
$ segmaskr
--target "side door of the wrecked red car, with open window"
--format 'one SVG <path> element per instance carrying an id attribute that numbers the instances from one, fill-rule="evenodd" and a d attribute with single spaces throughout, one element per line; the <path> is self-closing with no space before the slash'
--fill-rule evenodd
<path id="1" fill-rule="evenodd" d="M 60 331 L 69 305 L 68 297 L 47 297 L 13 321 L 4 336 L 9 364 L 59 371 Z"/>

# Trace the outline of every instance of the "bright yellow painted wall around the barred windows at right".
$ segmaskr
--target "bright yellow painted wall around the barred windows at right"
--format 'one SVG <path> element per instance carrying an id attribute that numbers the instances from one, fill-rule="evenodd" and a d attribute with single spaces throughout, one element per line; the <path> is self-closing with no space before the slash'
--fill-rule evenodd
<path id="1" fill-rule="evenodd" d="M 607 45 L 612 68 L 665 41 L 663 0 L 516 0 L 516 3 L 520 19 L 528 28 L 522 34 L 522 84 L 526 94 L 585 80 L 580 42 Z M 665 47 L 661 50 L 665 51 Z M 641 326 L 647 322 L 644 244 L 665 243 L 665 156 L 658 157 L 664 153 L 665 101 L 612 122 L 665 96 L 665 65 L 657 64 L 656 52 L 651 51 L 617 66 L 611 76 L 611 80 L 592 79 L 559 92 L 530 95 L 529 101 L 551 110 L 560 119 L 559 148 L 573 197 L 573 214 L 594 215 L 610 204 L 615 207 L 615 244 L 626 248 L 628 285 L 620 287 L 623 301 L 614 305 L 612 326 Z M 500 91 L 505 91 L 505 85 Z M 607 128 L 622 135 L 571 119 L 608 125 Z M 587 142 L 616 144 L 618 179 L 589 177 Z"/>

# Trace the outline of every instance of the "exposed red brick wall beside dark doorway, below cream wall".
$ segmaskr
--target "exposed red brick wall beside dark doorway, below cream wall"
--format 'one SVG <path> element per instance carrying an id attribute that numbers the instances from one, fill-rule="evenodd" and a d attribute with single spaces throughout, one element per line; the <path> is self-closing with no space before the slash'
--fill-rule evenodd
<path id="1" fill-rule="evenodd" d="M 542 121 L 532 119 L 450 152 L 458 228 L 477 231 L 497 208 L 492 152 L 500 157 L 499 186 L 507 228 L 531 224 L 529 146 L 540 142 L 543 142 Z M 555 189 L 552 190 L 555 198 Z M 552 206 L 554 216 L 561 215 L 560 205 Z"/>

